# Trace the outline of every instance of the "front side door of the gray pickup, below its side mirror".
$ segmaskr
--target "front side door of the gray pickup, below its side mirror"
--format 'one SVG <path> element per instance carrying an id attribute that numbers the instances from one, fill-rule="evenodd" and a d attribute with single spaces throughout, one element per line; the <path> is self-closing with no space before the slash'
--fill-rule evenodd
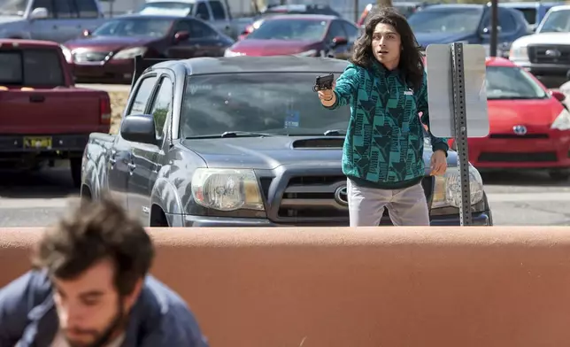
<path id="1" fill-rule="evenodd" d="M 159 76 L 158 86 L 150 97 L 148 113 L 152 114 L 158 145 L 131 143 L 131 167 L 128 176 L 128 210 L 138 216 L 144 226 L 150 221 L 150 193 L 157 181 L 158 171 L 165 158 L 163 145 L 166 139 L 166 120 L 172 114 L 173 77 L 167 73 Z"/>

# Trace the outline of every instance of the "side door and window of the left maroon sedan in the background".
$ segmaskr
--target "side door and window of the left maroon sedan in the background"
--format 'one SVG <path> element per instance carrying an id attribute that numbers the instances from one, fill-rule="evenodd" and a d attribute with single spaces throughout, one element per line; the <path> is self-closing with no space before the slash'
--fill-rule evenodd
<path id="1" fill-rule="evenodd" d="M 175 24 L 173 34 L 178 31 L 189 33 L 187 40 L 173 42 L 166 49 L 168 58 L 221 57 L 224 54 L 224 43 L 218 33 L 203 21 L 197 19 L 181 19 Z"/>

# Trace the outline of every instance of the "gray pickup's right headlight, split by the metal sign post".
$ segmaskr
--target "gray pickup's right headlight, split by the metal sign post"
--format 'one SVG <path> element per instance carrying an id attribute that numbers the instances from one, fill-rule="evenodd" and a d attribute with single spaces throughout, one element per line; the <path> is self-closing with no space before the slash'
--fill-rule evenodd
<path id="1" fill-rule="evenodd" d="M 473 166 L 469 166 L 469 189 L 471 204 L 477 204 L 483 199 L 483 180 L 481 174 Z M 461 176 L 459 168 L 448 167 L 445 174 L 435 176 L 432 208 L 461 205 Z"/>

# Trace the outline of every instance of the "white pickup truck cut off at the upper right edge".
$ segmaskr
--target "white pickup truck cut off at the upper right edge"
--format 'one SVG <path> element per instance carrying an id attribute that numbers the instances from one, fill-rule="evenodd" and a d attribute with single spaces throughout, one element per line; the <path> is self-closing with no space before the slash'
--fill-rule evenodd
<path id="1" fill-rule="evenodd" d="M 552 7 L 535 34 L 512 42 L 509 59 L 537 77 L 570 79 L 570 5 Z"/>

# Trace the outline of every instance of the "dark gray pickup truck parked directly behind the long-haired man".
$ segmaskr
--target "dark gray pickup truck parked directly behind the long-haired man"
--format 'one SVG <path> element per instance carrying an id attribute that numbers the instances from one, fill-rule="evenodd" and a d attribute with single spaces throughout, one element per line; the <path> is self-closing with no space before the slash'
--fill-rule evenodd
<path id="1" fill-rule="evenodd" d="M 341 168 L 350 111 L 326 110 L 315 77 L 343 73 L 334 58 L 135 60 L 119 135 L 94 133 L 81 197 L 105 192 L 150 227 L 347 226 Z M 162 60 L 162 59 L 156 59 Z M 140 76 L 140 77 L 139 77 Z M 459 225 L 457 153 L 423 187 L 432 225 Z M 492 225 L 471 166 L 475 225 Z M 381 224 L 391 224 L 388 214 Z"/>

